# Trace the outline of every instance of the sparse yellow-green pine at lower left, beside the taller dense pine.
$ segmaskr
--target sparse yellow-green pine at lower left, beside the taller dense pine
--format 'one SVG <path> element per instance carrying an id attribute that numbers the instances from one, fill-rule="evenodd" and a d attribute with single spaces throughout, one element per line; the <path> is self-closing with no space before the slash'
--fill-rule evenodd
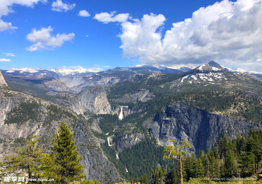
<path id="1" fill-rule="evenodd" d="M 27 178 L 38 177 L 41 173 L 43 165 L 42 152 L 36 147 L 36 143 L 41 139 L 34 140 L 36 136 L 32 136 L 29 140 L 24 139 L 27 147 L 15 149 L 15 154 L 18 156 L 6 156 L 4 158 L 3 172 L 15 173 L 16 175 L 23 175 Z"/>

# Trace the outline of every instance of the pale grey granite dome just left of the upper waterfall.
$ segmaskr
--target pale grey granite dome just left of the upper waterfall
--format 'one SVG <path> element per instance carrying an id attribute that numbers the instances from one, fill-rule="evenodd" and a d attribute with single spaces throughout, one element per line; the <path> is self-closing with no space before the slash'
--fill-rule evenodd
<path id="1" fill-rule="evenodd" d="M 51 100 L 55 104 L 67 106 L 77 114 L 90 112 L 110 114 L 111 106 L 107 101 L 106 91 L 102 86 L 89 86 L 78 95 L 59 93 Z"/>

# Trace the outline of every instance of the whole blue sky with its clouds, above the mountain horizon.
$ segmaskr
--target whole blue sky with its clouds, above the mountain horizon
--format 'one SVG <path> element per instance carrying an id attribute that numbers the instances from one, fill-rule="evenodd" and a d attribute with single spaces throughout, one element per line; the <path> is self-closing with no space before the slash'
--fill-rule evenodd
<path id="1" fill-rule="evenodd" d="M 27 5 L 29 6 L 23 3 L 25 1 L 28 1 Z M 67 4 L 69 9 L 62 8 L 59 12 L 51 10 L 54 9 L 55 5 L 52 7 L 54 1 L 50 0 L 24 0 L 23 2 L 22 0 L 3 0 L 0 2 L 2 3 L 0 6 L 6 9 L 0 8 L 0 18 L 4 23 L 12 23 L 12 26 L 17 27 L 17 29 L 13 28 L 12 30 L 10 26 L 1 29 L 0 22 L 0 31 L 2 30 L 0 32 L 0 59 L 12 61 L 3 60 L 3 62 L 0 62 L 0 68 L 41 67 L 48 69 L 48 67 L 58 68 L 62 66 L 94 68 L 96 67 L 93 66 L 95 64 L 111 66 L 100 67 L 107 69 L 117 66 L 133 66 L 139 63 L 197 65 L 214 60 L 228 67 L 241 67 L 249 71 L 261 72 L 262 49 L 260 43 L 262 38 L 259 37 L 261 31 L 258 31 L 258 35 L 254 35 L 256 39 L 253 42 L 251 41 L 252 43 L 249 43 L 248 47 L 244 41 L 243 43 L 232 41 L 243 40 L 250 33 L 255 33 L 261 28 L 261 24 L 260 26 L 257 25 L 261 20 L 254 21 L 255 28 L 253 28 L 254 25 L 249 25 L 249 27 L 252 27 L 250 30 L 242 31 L 239 28 L 233 33 L 234 36 L 231 35 L 231 37 L 224 39 L 223 35 L 220 35 L 219 38 L 214 38 L 214 35 L 217 35 L 215 33 L 218 33 L 214 30 L 217 31 L 217 28 L 224 27 L 221 25 L 228 26 L 228 21 L 232 23 L 234 20 L 244 17 L 250 9 L 258 9 L 256 12 L 253 10 L 255 12 L 252 15 L 253 17 L 261 14 L 261 8 L 259 10 L 261 2 L 258 0 L 249 1 L 249 4 L 243 4 L 243 0 L 238 0 L 239 3 L 236 5 L 236 3 L 233 4 L 233 2 L 228 1 L 214 4 L 216 1 L 69 0 L 67 2 L 62 1 L 62 3 L 65 3 L 64 5 L 69 3 Z M 34 2 L 37 2 L 37 4 Z M 208 11 L 208 8 L 201 9 L 201 7 L 208 6 L 210 11 Z M 248 10 L 236 13 L 238 12 L 237 9 L 243 8 Z M 7 9 L 9 12 L 6 12 Z M 88 11 L 90 16 L 78 16 L 80 10 Z M 192 16 L 192 13 L 197 10 L 198 12 Z M 103 12 L 108 14 L 100 14 Z M 110 12 L 114 13 L 110 15 Z M 229 17 L 227 20 L 223 20 L 223 17 L 221 17 L 221 14 L 225 14 L 225 12 L 233 12 L 232 15 L 227 15 Z M 150 13 L 152 14 L 150 15 Z M 119 17 L 126 14 L 128 19 L 114 19 L 118 14 L 120 14 Z M 148 16 L 143 17 L 146 14 Z M 250 13 L 249 16 L 251 17 Z M 206 20 L 206 17 L 212 18 Z M 174 25 L 172 25 L 187 18 L 191 18 L 190 23 L 185 22 L 184 25 L 182 24 L 183 26 L 179 25 L 179 28 L 177 26 L 174 28 Z M 111 22 L 107 23 L 106 19 Z M 246 22 L 250 21 L 246 20 L 244 23 Z M 196 24 L 197 26 L 193 26 Z M 48 29 L 49 26 L 51 27 Z M 203 26 L 207 26 L 207 28 L 203 28 Z M 210 33 L 212 26 L 217 27 Z M 240 27 L 240 25 L 238 26 Z M 34 28 L 35 33 L 32 31 Z M 41 37 L 43 33 L 40 32 L 41 28 L 44 28 L 45 33 L 49 33 L 54 40 L 51 41 L 52 38 L 48 41 L 43 39 Z M 133 28 L 136 31 L 133 31 Z M 170 33 L 172 28 L 176 30 Z M 183 31 L 184 36 L 178 37 L 179 34 L 181 36 L 183 28 L 188 31 Z M 228 31 L 230 27 L 225 29 Z M 207 31 L 209 32 L 207 33 Z M 225 30 L 223 31 L 225 32 Z M 230 33 L 232 34 L 232 31 Z M 60 36 L 64 34 L 67 37 L 62 44 L 57 43 L 59 42 L 57 34 L 60 34 Z M 238 37 L 235 36 L 237 34 Z M 210 39 L 206 40 L 207 38 Z M 217 41 L 223 39 L 225 41 L 222 44 Z M 250 42 L 252 38 L 249 37 L 247 40 Z M 36 50 L 30 50 L 30 46 L 37 42 L 41 42 L 42 47 L 34 47 Z M 188 44 L 188 42 L 192 43 Z M 213 45 L 208 46 L 210 45 L 208 42 Z M 221 46 L 226 45 L 225 43 L 230 45 L 231 52 L 228 52 L 228 47 Z M 121 48 L 119 48 L 120 46 Z M 179 52 L 177 48 L 180 48 Z M 244 55 L 243 50 L 245 50 Z M 10 56 L 10 54 L 6 56 L 5 53 L 12 53 L 15 56 Z"/>

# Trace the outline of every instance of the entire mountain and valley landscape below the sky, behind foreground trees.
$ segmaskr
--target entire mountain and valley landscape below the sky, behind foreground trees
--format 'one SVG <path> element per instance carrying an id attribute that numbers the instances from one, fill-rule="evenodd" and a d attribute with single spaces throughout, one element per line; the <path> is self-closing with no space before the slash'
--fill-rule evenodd
<path id="1" fill-rule="evenodd" d="M 262 78 L 231 70 L 214 61 L 106 71 L 1 70 L 0 161 L 32 135 L 50 153 L 48 142 L 62 121 L 88 180 L 150 179 L 159 166 L 169 173 L 173 166 L 162 157 L 174 145 L 170 140 L 186 141 L 191 147 L 185 155 L 198 155 L 221 137 L 233 141 L 261 128 Z"/>

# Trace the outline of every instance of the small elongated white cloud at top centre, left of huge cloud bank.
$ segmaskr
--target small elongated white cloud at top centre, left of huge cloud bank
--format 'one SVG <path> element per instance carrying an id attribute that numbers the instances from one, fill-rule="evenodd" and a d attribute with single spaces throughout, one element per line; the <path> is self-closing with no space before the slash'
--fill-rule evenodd
<path id="1" fill-rule="evenodd" d="M 109 22 L 125 22 L 129 17 L 129 13 L 120 13 L 114 15 L 115 13 L 116 11 L 110 12 L 110 14 L 107 12 L 95 14 L 95 17 L 93 19 L 96 19 L 99 22 L 103 22 L 104 24 L 107 24 Z"/>

